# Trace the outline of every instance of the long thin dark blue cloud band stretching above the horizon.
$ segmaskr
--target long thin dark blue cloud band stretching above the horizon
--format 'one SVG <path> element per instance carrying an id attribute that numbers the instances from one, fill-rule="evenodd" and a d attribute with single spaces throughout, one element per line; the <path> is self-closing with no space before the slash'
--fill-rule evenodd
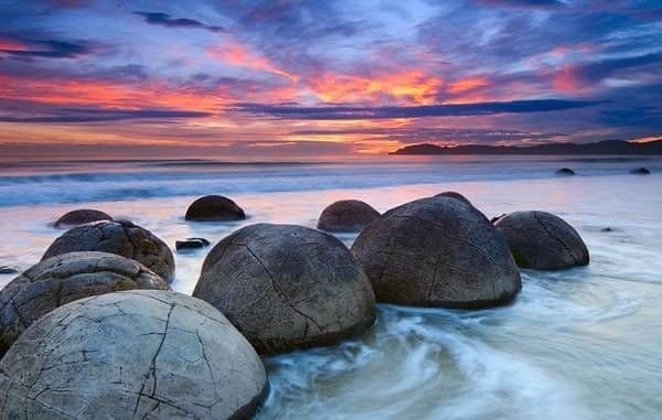
<path id="1" fill-rule="evenodd" d="M 597 103 L 564 99 L 532 99 L 502 103 L 389 107 L 299 107 L 264 104 L 238 104 L 235 107 L 235 110 L 239 112 L 255 115 L 268 115 L 278 119 L 357 120 L 383 118 L 460 117 L 496 114 L 546 112 L 586 108 L 592 105 L 597 105 Z"/>

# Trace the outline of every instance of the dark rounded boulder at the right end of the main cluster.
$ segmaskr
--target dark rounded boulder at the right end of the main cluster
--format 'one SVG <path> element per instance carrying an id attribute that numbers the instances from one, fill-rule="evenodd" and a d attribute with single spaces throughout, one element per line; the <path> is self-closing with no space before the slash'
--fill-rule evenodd
<path id="1" fill-rule="evenodd" d="M 494 226 L 520 267 L 558 270 L 588 265 L 588 249 L 577 230 L 551 213 L 510 213 Z"/>

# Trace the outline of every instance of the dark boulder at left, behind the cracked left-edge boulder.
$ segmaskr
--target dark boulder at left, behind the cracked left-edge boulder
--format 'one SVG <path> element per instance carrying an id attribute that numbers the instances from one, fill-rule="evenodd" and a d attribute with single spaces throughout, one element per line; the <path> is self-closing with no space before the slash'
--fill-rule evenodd
<path id="1" fill-rule="evenodd" d="M 117 254 L 142 263 L 169 283 L 174 279 L 174 257 L 168 245 L 128 220 L 102 220 L 74 227 L 51 244 L 42 260 L 74 251 Z"/>

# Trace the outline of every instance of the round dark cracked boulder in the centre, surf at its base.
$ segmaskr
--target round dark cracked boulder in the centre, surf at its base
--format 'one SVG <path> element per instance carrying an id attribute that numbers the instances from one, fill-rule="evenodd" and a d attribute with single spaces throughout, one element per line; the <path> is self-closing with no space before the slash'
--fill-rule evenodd
<path id="1" fill-rule="evenodd" d="M 257 224 L 227 236 L 205 258 L 193 295 L 265 354 L 331 345 L 375 319 L 373 291 L 350 250 L 303 226 Z"/>

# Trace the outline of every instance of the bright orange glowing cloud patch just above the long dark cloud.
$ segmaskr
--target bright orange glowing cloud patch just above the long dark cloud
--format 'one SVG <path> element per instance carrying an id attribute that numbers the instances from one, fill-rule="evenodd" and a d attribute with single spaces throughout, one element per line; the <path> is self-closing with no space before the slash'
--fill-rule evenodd
<path id="1" fill-rule="evenodd" d="M 404 71 L 373 77 L 327 73 L 310 80 L 311 89 L 327 103 L 378 101 L 384 96 L 405 103 L 427 105 L 442 80 L 421 71 Z"/>

